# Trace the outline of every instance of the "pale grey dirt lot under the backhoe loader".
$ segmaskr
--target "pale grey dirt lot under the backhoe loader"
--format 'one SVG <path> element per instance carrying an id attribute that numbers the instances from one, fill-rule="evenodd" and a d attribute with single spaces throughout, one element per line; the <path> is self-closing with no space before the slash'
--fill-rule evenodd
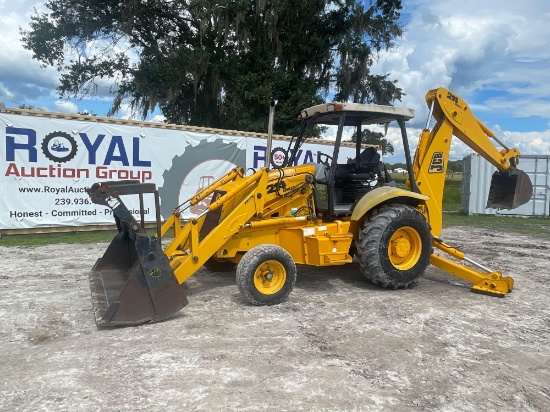
<path id="1" fill-rule="evenodd" d="M 550 410 L 550 242 L 442 237 L 514 292 L 433 267 L 404 291 L 299 267 L 287 302 L 252 307 L 233 273 L 202 270 L 177 316 L 104 330 L 87 272 L 106 244 L 0 247 L 0 410 Z"/>

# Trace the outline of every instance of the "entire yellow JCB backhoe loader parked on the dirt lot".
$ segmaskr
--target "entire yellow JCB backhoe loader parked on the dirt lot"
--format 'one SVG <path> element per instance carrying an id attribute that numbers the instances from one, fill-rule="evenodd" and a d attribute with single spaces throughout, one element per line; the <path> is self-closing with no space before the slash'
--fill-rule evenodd
<path id="1" fill-rule="evenodd" d="M 282 167 L 251 172 L 235 168 L 176 207 L 164 223 L 153 184 L 96 183 L 88 194 L 94 203 L 112 209 L 119 229 L 90 273 L 97 324 L 128 325 L 169 317 L 187 305 L 181 284 L 203 265 L 210 270 L 236 266 L 237 286 L 253 305 L 285 300 L 296 281 L 296 263 L 344 265 L 353 257 L 367 279 L 385 288 L 408 287 L 431 263 L 473 283 L 473 291 L 494 296 L 510 292 L 510 277 L 467 258 L 439 235 L 452 136 L 498 169 L 487 207 L 511 209 L 531 198 L 529 177 L 517 168 L 519 152 L 500 142 L 450 91 L 431 90 L 426 102 L 430 115 L 414 159 L 405 128 L 413 110 L 336 102 L 317 105 L 301 112 L 300 132 L 291 140 Z M 272 102 L 267 153 L 273 112 Z M 432 118 L 435 124 L 430 129 Z M 376 151 L 362 150 L 361 139 L 356 139 L 354 159 L 339 157 L 344 136 L 361 136 L 365 126 L 391 122 L 401 130 L 408 190 L 395 186 Z M 300 145 L 317 127 L 334 131 L 333 152 L 321 154 L 318 163 L 294 165 Z M 129 194 L 140 196 L 142 210 L 143 196 L 155 197 L 156 235 L 147 235 L 143 213 L 138 222 L 122 202 L 121 196 Z M 208 209 L 182 221 L 183 210 L 209 196 Z M 173 240 L 163 248 L 161 240 L 167 233 Z M 448 256 L 434 254 L 434 248 Z"/>

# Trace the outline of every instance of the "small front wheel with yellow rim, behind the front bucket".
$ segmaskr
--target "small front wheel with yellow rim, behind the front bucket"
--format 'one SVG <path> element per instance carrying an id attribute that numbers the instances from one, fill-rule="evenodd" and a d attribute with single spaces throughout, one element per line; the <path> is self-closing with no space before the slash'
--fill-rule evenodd
<path id="1" fill-rule="evenodd" d="M 253 305 L 275 305 L 285 300 L 296 283 L 296 265 L 280 246 L 259 245 L 237 265 L 237 286 Z"/>

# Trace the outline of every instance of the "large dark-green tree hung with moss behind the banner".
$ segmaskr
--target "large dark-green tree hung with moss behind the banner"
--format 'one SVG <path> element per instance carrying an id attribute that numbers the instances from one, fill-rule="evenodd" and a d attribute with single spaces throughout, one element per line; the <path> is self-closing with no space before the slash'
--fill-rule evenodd
<path id="1" fill-rule="evenodd" d="M 371 74 L 402 34 L 401 0 L 47 0 L 22 31 L 25 47 L 61 72 L 61 97 L 113 82 L 124 100 L 168 121 L 265 131 L 275 98 L 278 133 L 296 114 L 335 98 L 389 104 L 401 89 Z"/>

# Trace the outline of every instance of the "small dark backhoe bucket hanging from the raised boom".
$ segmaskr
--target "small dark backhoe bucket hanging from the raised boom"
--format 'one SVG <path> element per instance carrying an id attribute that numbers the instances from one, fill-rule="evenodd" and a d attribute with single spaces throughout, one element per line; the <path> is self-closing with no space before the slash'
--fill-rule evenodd
<path id="1" fill-rule="evenodd" d="M 533 185 L 527 174 L 510 168 L 506 172 L 495 172 L 487 199 L 487 208 L 515 209 L 527 203 L 533 195 Z"/>

